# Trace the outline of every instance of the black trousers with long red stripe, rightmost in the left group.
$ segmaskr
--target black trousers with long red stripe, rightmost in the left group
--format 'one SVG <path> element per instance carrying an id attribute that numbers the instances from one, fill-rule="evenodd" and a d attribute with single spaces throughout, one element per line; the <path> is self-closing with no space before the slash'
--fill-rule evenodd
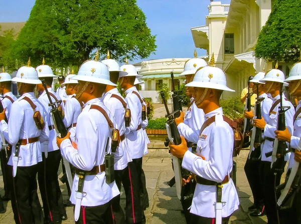
<path id="1" fill-rule="evenodd" d="M 125 217 L 126 223 L 138 223 L 142 219 L 142 211 L 140 206 L 140 188 L 138 181 L 136 165 L 133 162 L 129 162 L 127 167 L 122 170 L 115 170 L 115 182 L 119 191 L 121 190 L 121 182 L 123 184 L 125 192 Z M 120 201 L 120 195 L 116 198 Z M 118 204 L 119 204 L 118 201 Z M 113 211 L 115 214 L 114 203 Z M 123 212 L 122 212 L 123 213 Z"/>

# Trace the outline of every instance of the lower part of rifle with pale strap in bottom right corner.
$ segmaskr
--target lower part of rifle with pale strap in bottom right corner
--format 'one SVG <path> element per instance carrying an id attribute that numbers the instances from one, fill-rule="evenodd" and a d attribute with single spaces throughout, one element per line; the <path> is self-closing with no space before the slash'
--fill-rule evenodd
<path id="1" fill-rule="evenodd" d="M 298 147 L 295 150 L 301 150 L 301 141 L 299 141 Z M 285 182 L 276 186 L 276 192 L 281 192 L 277 201 L 278 209 L 283 210 L 291 208 L 295 199 L 295 194 L 300 190 L 300 187 L 301 165 L 299 162 L 293 160 L 293 166 L 287 171 Z"/>

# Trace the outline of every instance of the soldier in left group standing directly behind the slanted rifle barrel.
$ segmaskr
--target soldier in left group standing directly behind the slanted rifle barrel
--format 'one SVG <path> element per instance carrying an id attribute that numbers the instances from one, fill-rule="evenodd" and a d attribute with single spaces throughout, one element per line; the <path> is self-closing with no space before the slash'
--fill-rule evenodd
<path id="1" fill-rule="evenodd" d="M 45 64 L 43 58 L 42 65 L 36 67 L 39 79 L 45 80 L 52 102 L 60 100 L 60 96 L 52 89 L 51 85 L 53 74 L 50 66 Z M 54 122 L 50 114 L 51 106 L 49 106 L 49 98 L 42 84 L 37 85 L 41 95 L 38 100 L 44 105 L 48 114 L 49 140 L 44 142 L 42 146 L 43 162 L 38 171 L 38 180 L 43 201 L 44 215 L 48 222 L 60 222 L 67 219 L 66 210 L 63 204 L 63 196 L 58 180 L 58 170 L 61 162 L 61 151 L 56 143 L 56 130 Z M 63 103 L 62 103 L 63 104 Z"/>

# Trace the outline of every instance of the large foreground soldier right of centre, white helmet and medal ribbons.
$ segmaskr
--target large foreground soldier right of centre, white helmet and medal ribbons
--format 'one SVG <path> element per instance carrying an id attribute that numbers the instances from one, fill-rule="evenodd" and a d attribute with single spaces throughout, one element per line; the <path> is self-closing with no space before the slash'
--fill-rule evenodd
<path id="1" fill-rule="evenodd" d="M 219 100 L 223 91 L 234 90 L 226 86 L 223 70 L 211 66 L 198 69 L 193 81 L 186 86 L 194 87 L 195 103 L 204 110 L 205 123 L 200 130 L 196 154 L 188 150 L 183 136 L 180 145 L 170 145 L 170 148 L 173 155 L 183 158 L 182 166 L 197 175 L 191 223 L 228 223 L 238 209 L 239 199 L 230 178 L 234 132 L 228 123 L 230 119 L 223 116 Z"/>

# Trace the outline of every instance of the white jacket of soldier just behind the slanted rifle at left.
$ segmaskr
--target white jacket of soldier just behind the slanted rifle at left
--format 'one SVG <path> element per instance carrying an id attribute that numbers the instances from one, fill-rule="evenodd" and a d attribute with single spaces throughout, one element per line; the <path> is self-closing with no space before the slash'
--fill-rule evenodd
<path id="1" fill-rule="evenodd" d="M 61 99 L 61 97 L 55 92 L 53 91 L 53 89 L 51 87 L 48 88 L 48 91 L 53 93 L 58 100 Z M 51 99 L 52 99 L 52 102 L 55 101 L 55 99 L 50 96 Z M 52 126 L 54 124 L 53 120 L 52 120 L 52 116 L 50 114 L 50 110 L 51 110 L 51 106 L 49 106 L 49 99 L 48 99 L 48 96 L 46 94 L 46 91 L 44 90 L 42 92 L 42 94 L 39 96 L 38 100 L 44 105 L 45 109 L 46 109 L 46 112 L 47 112 L 47 115 L 48 115 L 48 125 L 49 126 Z M 64 103 L 61 104 L 64 108 Z M 56 130 L 54 128 L 52 128 L 50 131 L 49 131 L 49 140 L 48 141 L 45 141 L 43 144 L 44 146 L 42 147 L 42 151 L 44 152 L 45 151 L 45 148 L 44 147 L 47 147 L 48 149 L 48 152 L 49 151 L 55 151 L 55 150 L 58 150 L 59 147 L 56 143 L 56 137 L 57 137 L 57 133 L 56 133 Z"/>

